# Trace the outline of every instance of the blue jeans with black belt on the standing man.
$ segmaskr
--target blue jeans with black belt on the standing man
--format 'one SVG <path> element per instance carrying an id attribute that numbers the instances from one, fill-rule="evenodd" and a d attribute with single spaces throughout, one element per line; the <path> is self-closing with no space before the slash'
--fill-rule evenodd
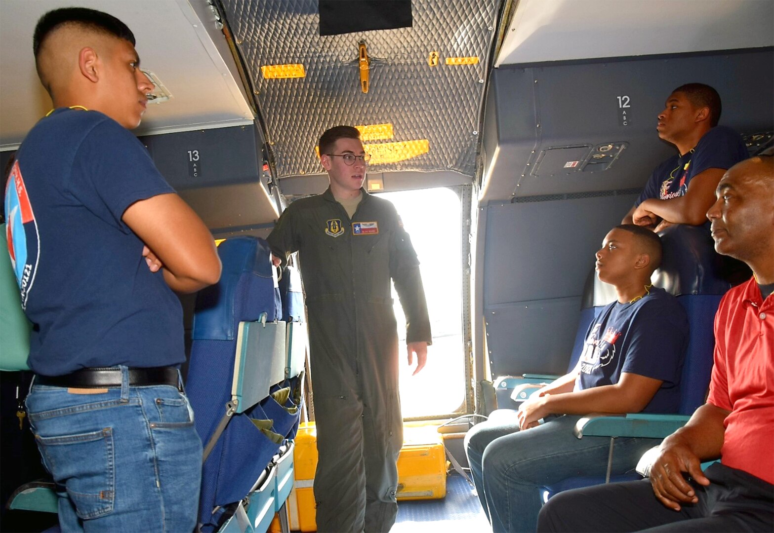
<path id="1" fill-rule="evenodd" d="M 194 531 L 201 440 L 188 398 L 170 385 L 69 389 L 26 399 L 62 531 Z"/>

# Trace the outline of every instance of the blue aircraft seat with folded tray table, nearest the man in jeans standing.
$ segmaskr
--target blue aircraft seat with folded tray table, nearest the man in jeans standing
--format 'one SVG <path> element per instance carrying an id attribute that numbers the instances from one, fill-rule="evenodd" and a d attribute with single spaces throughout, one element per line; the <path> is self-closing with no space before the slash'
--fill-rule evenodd
<path id="1" fill-rule="evenodd" d="M 268 244 L 230 238 L 218 255 L 220 282 L 197 296 L 187 379 L 205 444 L 200 523 L 202 531 L 231 531 L 246 518 L 257 531 L 274 515 L 275 463 L 298 426 L 303 377 L 286 371 Z"/>

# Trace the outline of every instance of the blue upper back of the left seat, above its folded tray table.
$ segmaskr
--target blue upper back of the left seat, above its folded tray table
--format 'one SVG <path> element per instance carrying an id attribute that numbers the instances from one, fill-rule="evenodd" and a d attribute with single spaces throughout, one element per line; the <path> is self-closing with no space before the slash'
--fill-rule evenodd
<path id="1" fill-rule="evenodd" d="M 258 320 L 261 313 L 276 319 L 270 254 L 269 244 L 257 237 L 231 237 L 217 247 L 221 279 L 197 295 L 193 340 L 234 340 L 241 321 Z"/>

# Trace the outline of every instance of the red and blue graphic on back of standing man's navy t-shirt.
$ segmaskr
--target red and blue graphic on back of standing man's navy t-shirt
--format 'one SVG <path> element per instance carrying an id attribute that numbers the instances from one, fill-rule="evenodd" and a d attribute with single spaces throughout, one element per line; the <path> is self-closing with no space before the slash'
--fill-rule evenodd
<path id="1" fill-rule="evenodd" d="M 13 164 L 5 186 L 5 214 L 8 217 L 5 233 L 11 265 L 22 295 L 22 309 L 26 309 L 38 268 L 40 237 L 18 161 Z"/>

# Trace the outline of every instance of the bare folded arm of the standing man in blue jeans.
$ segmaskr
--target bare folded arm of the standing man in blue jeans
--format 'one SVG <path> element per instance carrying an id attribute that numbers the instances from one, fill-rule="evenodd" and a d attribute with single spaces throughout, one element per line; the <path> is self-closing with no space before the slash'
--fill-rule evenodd
<path id="1" fill-rule="evenodd" d="M 132 203 L 122 220 L 146 244 L 149 268 L 163 265 L 164 279 L 174 291 L 196 292 L 220 279 L 221 260 L 212 235 L 180 196 L 159 194 Z"/>

